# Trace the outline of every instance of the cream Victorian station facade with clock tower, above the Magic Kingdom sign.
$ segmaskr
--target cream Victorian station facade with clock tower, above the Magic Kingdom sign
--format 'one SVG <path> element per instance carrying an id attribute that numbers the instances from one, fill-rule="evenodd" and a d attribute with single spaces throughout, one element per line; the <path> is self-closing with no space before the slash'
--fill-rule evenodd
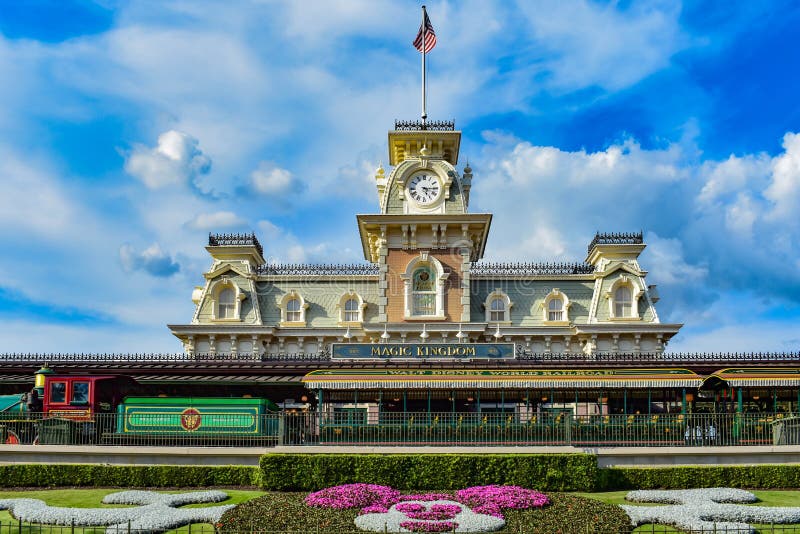
<path id="1" fill-rule="evenodd" d="M 375 214 L 358 215 L 365 262 L 270 265 L 254 235 L 211 235 L 212 265 L 191 323 L 170 325 L 190 354 L 315 353 L 331 344 L 482 343 L 542 354 L 662 353 L 680 324 L 659 320 L 639 264 L 641 234 L 597 234 L 582 262 L 482 262 L 492 214 L 469 211 L 452 123 L 399 123 Z M 520 229 L 520 236 L 526 230 Z"/>

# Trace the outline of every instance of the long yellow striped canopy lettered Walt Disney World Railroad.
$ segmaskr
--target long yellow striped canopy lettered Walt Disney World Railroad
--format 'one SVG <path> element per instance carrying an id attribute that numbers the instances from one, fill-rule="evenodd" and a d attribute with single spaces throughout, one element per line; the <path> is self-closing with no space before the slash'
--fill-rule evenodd
<path id="1" fill-rule="evenodd" d="M 699 387 L 688 369 L 332 369 L 303 377 L 309 389 L 546 389 Z"/>

